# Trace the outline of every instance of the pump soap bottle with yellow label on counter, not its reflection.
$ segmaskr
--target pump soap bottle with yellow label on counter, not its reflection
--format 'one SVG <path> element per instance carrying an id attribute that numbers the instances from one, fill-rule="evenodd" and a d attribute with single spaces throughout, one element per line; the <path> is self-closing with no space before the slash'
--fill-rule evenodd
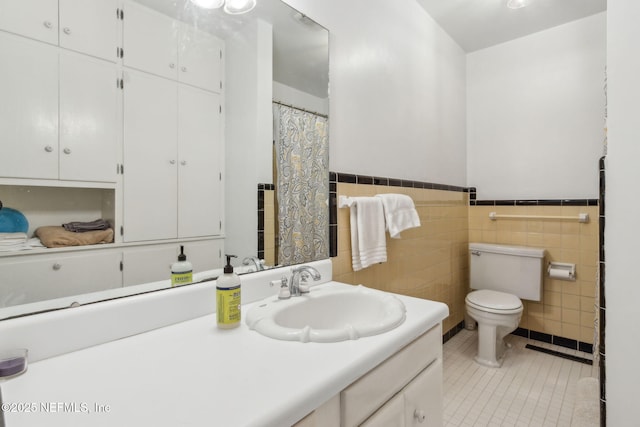
<path id="1" fill-rule="evenodd" d="M 216 317 L 218 328 L 231 329 L 240 326 L 240 278 L 233 272 L 231 258 L 227 255 L 224 274 L 216 280 Z"/>

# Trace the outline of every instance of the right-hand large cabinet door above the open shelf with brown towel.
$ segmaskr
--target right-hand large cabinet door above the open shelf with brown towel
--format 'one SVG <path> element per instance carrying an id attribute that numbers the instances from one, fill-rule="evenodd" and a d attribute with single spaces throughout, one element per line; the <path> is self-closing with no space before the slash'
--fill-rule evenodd
<path id="1" fill-rule="evenodd" d="M 60 51 L 60 179 L 116 181 L 115 64 Z"/>

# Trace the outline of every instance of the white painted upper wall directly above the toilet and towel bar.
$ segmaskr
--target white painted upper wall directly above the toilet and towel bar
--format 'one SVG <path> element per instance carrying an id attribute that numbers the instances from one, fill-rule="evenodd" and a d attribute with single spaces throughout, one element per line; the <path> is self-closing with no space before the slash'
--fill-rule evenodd
<path id="1" fill-rule="evenodd" d="M 605 62 L 605 13 L 467 55 L 478 199 L 598 197 Z"/>

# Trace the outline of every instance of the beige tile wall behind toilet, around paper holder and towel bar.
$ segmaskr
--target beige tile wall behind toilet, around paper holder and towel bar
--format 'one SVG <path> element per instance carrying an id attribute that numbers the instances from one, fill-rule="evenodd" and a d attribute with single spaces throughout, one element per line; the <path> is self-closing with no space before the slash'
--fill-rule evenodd
<path id="1" fill-rule="evenodd" d="M 576 264 L 576 281 L 545 277 L 543 300 L 524 301 L 520 326 L 538 332 L 594 342 L 598 287 L 598 207 L 579 206 L 471 206 L 469 241 L 526 245 L 546 249 L 550 261 Z M 489 219 L 490 212 L 504 215 L 577 216 L 590 222 L 564 220 Z"/>

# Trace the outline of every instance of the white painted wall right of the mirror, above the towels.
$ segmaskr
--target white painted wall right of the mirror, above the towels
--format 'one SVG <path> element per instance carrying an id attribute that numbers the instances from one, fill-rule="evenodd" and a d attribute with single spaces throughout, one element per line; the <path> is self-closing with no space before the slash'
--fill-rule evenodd
<path id="1" fill-rule="evenodd" d="M 466 185 L 465 54 L 415 0 L 286 0 L 330 31 L 330 167 Z"/>

